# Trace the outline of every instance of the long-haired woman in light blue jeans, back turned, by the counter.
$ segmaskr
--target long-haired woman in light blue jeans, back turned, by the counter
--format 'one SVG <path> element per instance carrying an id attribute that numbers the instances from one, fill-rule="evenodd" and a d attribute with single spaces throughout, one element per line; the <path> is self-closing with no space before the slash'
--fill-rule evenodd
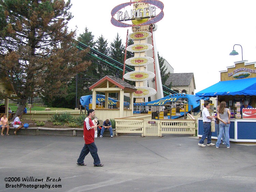
<path id="1" fill-rule="evenodd" d="M 221 144 L 221 138 L 223 135 L 223 131 L 225 130 L 225 136 L 226 136 L 226 146 L 227 148 L 230 147 L 229 144 L 229 125 L 230 125 L 230 111 L 228 108 L 226 108 L 226 102 L 223 101 L 219 105 L 219 110 L 217 114 L 217 118 L 219 119 L 219 136 L 216 143 L 216 148 L 219 148 L 219 144 Z"/>

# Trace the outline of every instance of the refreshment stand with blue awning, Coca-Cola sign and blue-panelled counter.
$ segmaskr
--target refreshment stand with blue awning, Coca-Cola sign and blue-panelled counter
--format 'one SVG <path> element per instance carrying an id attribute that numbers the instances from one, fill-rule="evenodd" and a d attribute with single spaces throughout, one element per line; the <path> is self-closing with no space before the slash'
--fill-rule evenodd
<path id="1" fill-rule="evenodd" d="M 214 97 L 217 104 L 226 102 L 230 109 L 229 137 L 231 142 L 256 143 L 256 108 L 240 108 L 244 101 L 256 107 L 256 62 L 234 62 L 234 66 L 220 71 L 220 82 L 196 93 L 199 97 Z M 210 112 L 210 110 L 209 110 Z M 198 136 L 203 134 L 202 118 L 198 118 Z M 212 133 L 217 139 L 217 133 Z"/>

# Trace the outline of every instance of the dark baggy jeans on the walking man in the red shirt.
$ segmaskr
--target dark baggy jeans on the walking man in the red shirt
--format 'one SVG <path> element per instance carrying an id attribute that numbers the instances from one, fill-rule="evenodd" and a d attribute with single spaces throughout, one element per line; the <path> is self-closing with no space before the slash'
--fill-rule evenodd
<path id="1" fill-rule="evenodd" d="M 77 163 L 79 163 L 79 164 L 84 163 L 84 158 L 85 158 L 85 156 L 87 156 L 87 154 L 89 152 L 91 153 L 91 156 L 94 159 L 93 164 L 95 164 L 95 165 L 100 164 L 100 158 L 99 158 L 98 153 L 97 153 L 98 149 L 97 149 L 97 147 L 96 147 L 94 142 L 91 143 L 91 144 L 84 144 L 84 147 L 83 147 L 83 149 L 82 149 L 82 151 L 80 153 L 80 156 L 77 159 Z"/>

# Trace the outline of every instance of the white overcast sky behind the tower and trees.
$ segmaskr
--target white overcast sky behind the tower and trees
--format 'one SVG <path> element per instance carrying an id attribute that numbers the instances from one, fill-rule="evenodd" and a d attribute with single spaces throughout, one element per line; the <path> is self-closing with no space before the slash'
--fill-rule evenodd
<path id="1" fill-rule="evenodd" d="M 118 33 L 125 45 L 127 29 L 111 24 L 111 10 L 129 0 L 71 0 L 74 16 L 69 29 L 77 26 L 78 34 L 85 27 L 95 37 L 102 34 L 112 42 Z M 243 60 L 256 62 L 256 0 L 162 0 L 164 17 L 155 32 L 159 54 L 174 68 L 174 73 L 194 73 L 199 92 L 219 82 L 219 71 L 242 60 L 230 56 L 234 44 L 243 48 Z"/>

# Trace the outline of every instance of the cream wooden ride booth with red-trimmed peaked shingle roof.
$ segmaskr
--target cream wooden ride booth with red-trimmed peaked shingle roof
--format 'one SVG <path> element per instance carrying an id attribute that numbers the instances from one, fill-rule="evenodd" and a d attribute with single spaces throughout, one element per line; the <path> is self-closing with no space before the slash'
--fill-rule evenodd
<path id="1" fill-rule="evenodd" d="M 93 91 L 92 108 L 95 110 L 96 116 L 99 119 L 114 119 L 133 115 L 133 93 L 137 91 L 134 86 L 126 83 L 124 80 L 114 76 L 105 76 L 97 83 L 89 87 Z M 104 108 L 96 108 L 97 92 L 105 93 Z M 117 109 L 109 108 L 109 93 L 118 93 Z M 124 93 L 130 95 L 129 108 L 124 108 Z"/>

